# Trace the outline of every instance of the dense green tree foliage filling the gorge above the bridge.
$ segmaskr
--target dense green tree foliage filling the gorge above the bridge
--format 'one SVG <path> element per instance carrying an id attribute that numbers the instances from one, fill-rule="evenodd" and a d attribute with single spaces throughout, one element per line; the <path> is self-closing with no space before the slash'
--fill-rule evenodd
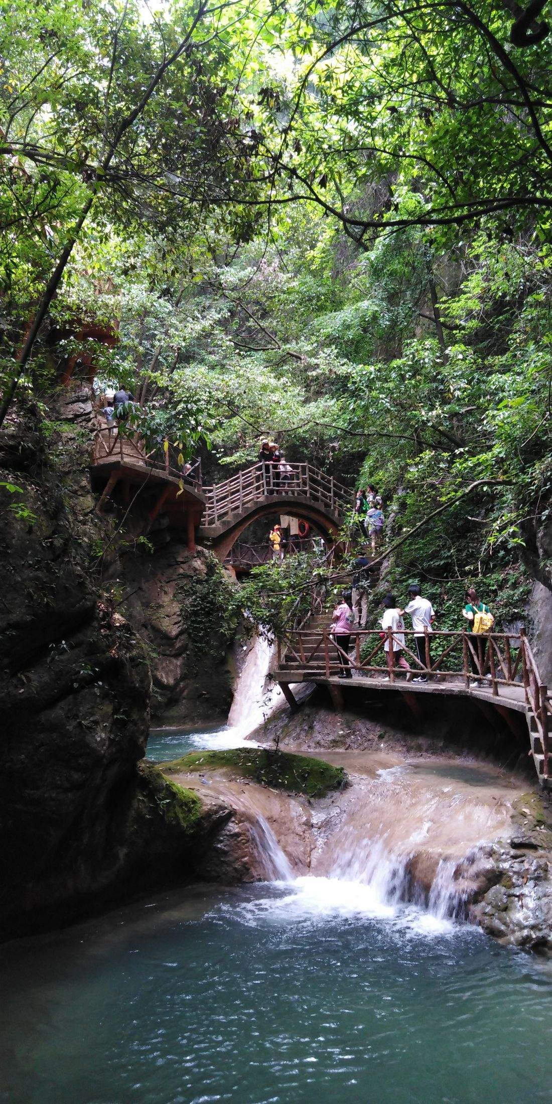
<path id="1" fill-rule="evenodd" d="M 394 540 L 446 506 L 399 546 L 397 582 L 486 576 L 498 594 L 516 577 L 505 617 L 526 594 L 520 555 L 551 585 L 552 38 L 539 13 L 523 23 L 490 0 L 3 9 L 9 416 L 25 395 L 47 406 L 87 354 L 98 379 L 136 389 L 151 438 L 212 447 L 213 466 L 252 463 L 269 434 L 351 490 L 378 482 Z M 289 581 L 286 609 L 302 585 Z M 273 624 L 278 586 L 269 569 L 247 594 Z"/>

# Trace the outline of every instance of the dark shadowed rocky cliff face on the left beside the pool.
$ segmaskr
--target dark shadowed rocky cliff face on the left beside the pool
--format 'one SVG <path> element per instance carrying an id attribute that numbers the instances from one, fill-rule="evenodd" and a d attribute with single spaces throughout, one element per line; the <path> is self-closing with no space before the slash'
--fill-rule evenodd
<path id="1" fill-rule="evenodd" d="M 118 558 L 113 520 L 95 514 L 89 489 L 87 391 L 63 393 L 56 413 L 63 421 L 52 424 L 47 449 L 30 411 L 11 422 L 0 455 L 4 936 L 66 922 L 159 880 L 192 877 L 225 817 L 204 814 L 193 795 L 140 765 L 150 656 L 97 571 L 102 554 L 109 580 Z M 171 551 L 161 581 L 144 583 L 140 608 L 151 625 L 146 618 L 139 627 L 147 622 L 147 640 L 158 634 L 178 641 L 168 595 L 181 569 L 189 577 L 206 571 L 201 558 Z M 153 592 L 163 593 L 157 620 Z M 178 666 L 181 655 L 178 643 L 169 658 Z M 178 687 L 182 670 L 171 680 L 166 660 L 157 662 L 158 683 L 164 677 Z"/>

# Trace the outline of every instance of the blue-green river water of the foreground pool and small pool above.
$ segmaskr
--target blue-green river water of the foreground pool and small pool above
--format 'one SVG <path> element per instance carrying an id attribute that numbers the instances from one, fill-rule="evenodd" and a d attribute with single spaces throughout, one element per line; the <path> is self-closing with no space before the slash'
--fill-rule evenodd
<path id="1" fill-rule="evenodd" d="M 148 754 L 241 739 L 158 732 Z M 156 894 L 0 948 L 2 1104 L 552 1098 L 548 965 L 364 867 L 294 878 L 263 846 L 275 882 Z"/>

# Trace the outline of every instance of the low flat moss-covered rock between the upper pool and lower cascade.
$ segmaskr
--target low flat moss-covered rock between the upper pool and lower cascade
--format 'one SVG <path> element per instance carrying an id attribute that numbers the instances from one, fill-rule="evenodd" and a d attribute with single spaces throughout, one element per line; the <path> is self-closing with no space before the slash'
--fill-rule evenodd
<path id="1" fill-rule="evenodd" d="M 264 747 L 235 747 L 231 751 L 190 752 L 182 758 L 163 763 L 166 774 L 229 769 L 265 786 L 287 789 L 307 797 L 325 797 L 331 789 L 343 789 L 349 779 L 341 766 L 332 766 L 309 755 Z"/>

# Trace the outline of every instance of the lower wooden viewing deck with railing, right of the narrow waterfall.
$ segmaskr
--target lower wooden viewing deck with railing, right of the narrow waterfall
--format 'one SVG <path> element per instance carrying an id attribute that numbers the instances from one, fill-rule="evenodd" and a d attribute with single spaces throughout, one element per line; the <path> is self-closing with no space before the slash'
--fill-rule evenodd
<path id="1" fill-rule="evenodd" d="M 297 708 L 290 682 L 326 683 L 336 704 L 342 704 L 341 689 L 370 689 L 378 692 L 397 691 L 410 709 L 420 715 L 420 697 L 448 696 L 475 700 L 498 712 L 509 728 L 519 734 L 511 713 L 526 716 L 530 754 L 533 756 L 539 782 L 550 786 L 549 737 L 552 698 L 541 681 L 531 646 L 520 634 L 490 633 L 475 635 L 465 630 L 436 630 L 425 634 L 425 665 L 420 662 L 415 634 L 406 630 L 403 655 L 412 675 L 426 676 L 427 682 L 406 680 L 399 667 L 388 672 L 384 645 L 393 640 L 391 629 L 381 638 L 378 629 L 351 629 L 348 654 L 339 637 L 330 635 L 325 614 L 314 616 L 299 629 L 290 630 L 278 640 L 277 658 L 272 671 L 284 694 Z M 420 634 L 418 634 L 420 635 Z M 474 673 L 471 664 L 477 673 Z M 339 678 L 342 665 L 350 667 L 351 678 Z M 479 682 L 479 686 L 476 684 Z M 489 715 L 487 713 L 487 715 Z"/>

